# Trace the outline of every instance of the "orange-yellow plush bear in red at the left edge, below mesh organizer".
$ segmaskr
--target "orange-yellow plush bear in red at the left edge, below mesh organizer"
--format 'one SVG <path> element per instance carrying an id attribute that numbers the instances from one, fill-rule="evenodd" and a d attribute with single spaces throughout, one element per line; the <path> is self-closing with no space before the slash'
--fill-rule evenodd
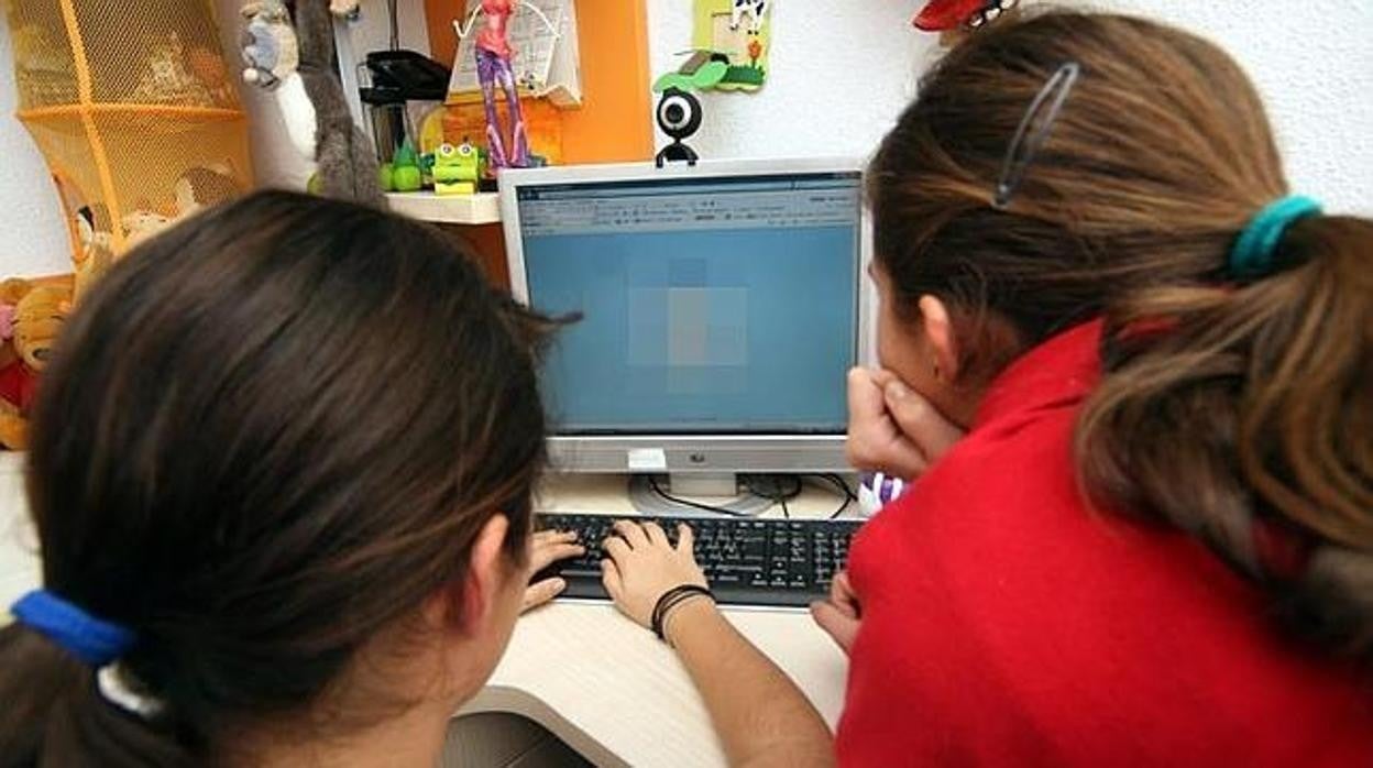
<path id="1" fill-rule="evenodd" d="M 71 310 L 71 290 L 5 282 L 0 298 L 19 300 L 7 313 L 10 346 L 15 359 L 0 368 L 0 445 L 11 451 L 27 447 L 27 416 L 37 394 L 38 372 L 48 364 L 58 332 Z"/>

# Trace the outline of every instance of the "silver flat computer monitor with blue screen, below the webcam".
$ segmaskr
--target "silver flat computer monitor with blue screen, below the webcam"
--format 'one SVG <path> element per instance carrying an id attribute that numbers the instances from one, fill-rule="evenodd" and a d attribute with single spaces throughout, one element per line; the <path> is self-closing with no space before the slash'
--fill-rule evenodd
<path id="1" fill-rule="evenodd" d="M 544 361 L 563 471 L 843 471 L 866 360 L 857 161 L 501 173 L 516 298 L 579 313 Z"/>

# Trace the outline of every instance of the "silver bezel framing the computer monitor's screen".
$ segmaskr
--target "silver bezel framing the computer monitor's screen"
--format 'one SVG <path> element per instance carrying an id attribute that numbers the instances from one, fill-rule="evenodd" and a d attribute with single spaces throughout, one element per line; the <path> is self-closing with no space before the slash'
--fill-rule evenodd
<path id="1" fill-rule="evenodd" d="M 529 305 L 524 243 L 519 220 L 519 190 L 548 184 L 644 181 L 663 179 L 728 179 L 736 176 L 794 176 L 798 173 L 862 173 L 858 158 L 730 159 L 674 163 L 574 165 L 508 169 L 500 174 L 501 221 L 511 293 Z M 872 262 L 872 224 L 865 205 L 858 210 L 858 364 L 876 357 L 877 297 L 866 279 Z M 552 436 L 553 467 L 573 473 L 829 473 L 846 471 L 844 436 L 840 434 L 636 434 Z M 662 466 L 655 466 L 660 456 Z M 637 458 L 637 459 L 636 459 Z"/>

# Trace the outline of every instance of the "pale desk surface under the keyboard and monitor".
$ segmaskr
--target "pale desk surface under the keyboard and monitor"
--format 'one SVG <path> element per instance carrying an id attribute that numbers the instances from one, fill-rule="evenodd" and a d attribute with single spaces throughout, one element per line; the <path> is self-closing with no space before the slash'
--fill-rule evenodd
<path id="1" fill-rule="evenodd" d="M 828 514 L 832 493 L 807 490 L 796 517 Z M 633 514 L 623 478 L 553 481 L 540 508 Z M 38 583 L 21 459 L 0 453 L 0 605 Z M 803 611 L 726 611 L 810 697 L 831 725 L 846 659 Z M 706 709 L 673 653 L 611 606 L 555 603 L 523 618 L 486 690 L 463 709 L 508 712 L 552 731 L 597 765 L 725 765 Z"/>

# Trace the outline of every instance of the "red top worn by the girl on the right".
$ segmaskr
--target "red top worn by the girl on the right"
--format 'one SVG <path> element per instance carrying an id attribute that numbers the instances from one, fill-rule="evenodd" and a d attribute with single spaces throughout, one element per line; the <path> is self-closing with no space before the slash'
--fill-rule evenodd
<path id="1" fill-rule="evenodd" d="M 1089 508 L 1098 323 L 1001 375 L 859 532 L 844 765 L 1373 765 L 1373 684 L 1282 640 L 1196 540 Z"/>

